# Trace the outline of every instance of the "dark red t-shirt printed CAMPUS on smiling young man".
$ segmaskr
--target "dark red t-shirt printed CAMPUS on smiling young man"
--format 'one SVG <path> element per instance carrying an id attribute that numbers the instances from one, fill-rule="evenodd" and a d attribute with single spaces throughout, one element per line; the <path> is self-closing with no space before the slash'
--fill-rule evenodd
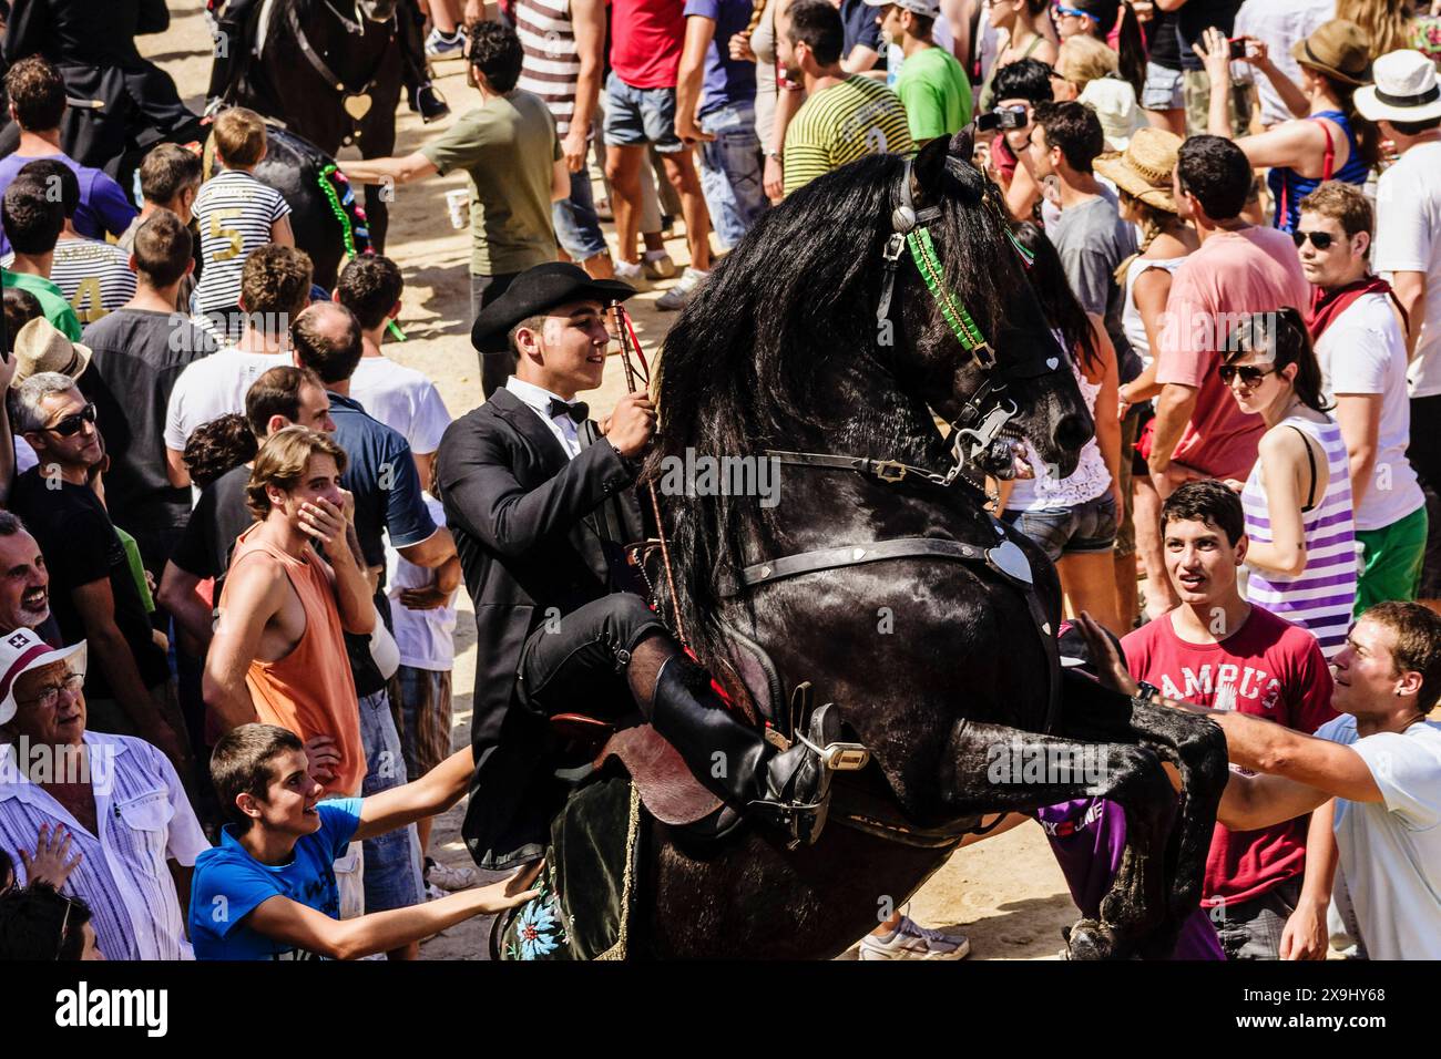
<path id="1" fill-rule="evenodd" d="M 1172 628 L 1173 614 L 1121 640 L 1137 680 L 1156 684 L 1167 699 L 1241 710 L 1307 735 L 1336 716 L 1331 673 L 1316 637 L 1300 625 L 1252 607 L 1245 624 L 1219 644 L 1190 644 Z M 1202 906 L 1251 901 L 1300 876 L 1308 821 L 1297 817 L 1258 831 L 1216 824 Z"/>

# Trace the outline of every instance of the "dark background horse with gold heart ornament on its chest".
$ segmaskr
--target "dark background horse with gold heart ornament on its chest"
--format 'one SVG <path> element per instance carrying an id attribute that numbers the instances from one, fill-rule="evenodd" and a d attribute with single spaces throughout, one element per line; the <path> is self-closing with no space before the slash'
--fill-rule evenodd
<path id="1" fill-rule="evenodd" d="M 228 97 L 285 124 L 334 156 L 354 144 L 365 158 L 395 151 L 401 99 L 398 0 L 274 0 L 261 52 Z M 347 13 L 350 12 L 350 13 Z M 365 189 L 370 241 L 385 249 L 386 195 Z"/>

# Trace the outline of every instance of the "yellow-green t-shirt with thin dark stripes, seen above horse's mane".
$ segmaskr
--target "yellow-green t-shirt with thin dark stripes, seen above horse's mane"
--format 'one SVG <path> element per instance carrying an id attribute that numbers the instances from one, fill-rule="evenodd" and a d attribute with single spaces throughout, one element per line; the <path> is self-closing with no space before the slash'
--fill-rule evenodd
<path id="1" fill-rule="evenodd" d="M 795 111 L 785 130 L 785 193 L 867 154 L 912 150 L 901 99 L 882 82 L 856 73 Z"/>

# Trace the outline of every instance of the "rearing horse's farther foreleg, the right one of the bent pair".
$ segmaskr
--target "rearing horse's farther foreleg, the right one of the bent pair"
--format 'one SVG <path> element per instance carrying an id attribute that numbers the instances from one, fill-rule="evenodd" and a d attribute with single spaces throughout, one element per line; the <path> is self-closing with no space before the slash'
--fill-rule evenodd
<path id="1" fill-rule="evenodd" d="M 1059 733 L 1137 741 L 1180 772 L 1180 800 L 1166 856 L 1167 913 L 1174 934 L 1200 903 L 1216 807 L 1226 788 L 1225 735 L 1206 718 L 1137 702 L 1084 677 L 1066 680 Z"/>

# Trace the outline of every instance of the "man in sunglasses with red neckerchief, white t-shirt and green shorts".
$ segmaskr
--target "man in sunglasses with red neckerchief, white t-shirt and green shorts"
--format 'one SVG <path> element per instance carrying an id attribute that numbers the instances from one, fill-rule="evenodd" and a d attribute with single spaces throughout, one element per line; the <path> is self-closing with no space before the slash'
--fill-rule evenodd
<path id="1" fill-rule="evenodd" d="M 1308 326 L 1323 388 L 1350 458 L 1362 571 L 1356 614 L 1415 599 L 1427 548 L 1427 499 L 1406 460 L 1406 337 L 1391 285 L 1370 275 L 1370 202 L 1327 180 L 1301 200 L 1301 271 L 1314 284 Z"/>

